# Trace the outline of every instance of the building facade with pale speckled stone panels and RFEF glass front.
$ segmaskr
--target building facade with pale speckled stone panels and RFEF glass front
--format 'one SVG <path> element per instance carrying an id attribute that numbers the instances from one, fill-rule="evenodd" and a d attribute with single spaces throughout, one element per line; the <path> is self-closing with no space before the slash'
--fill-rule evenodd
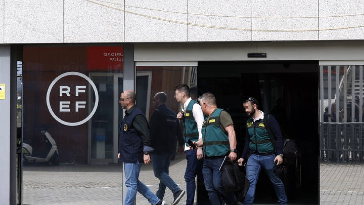
<path id="1" fill-rule="evenodd" d="M 359 0 L 3 0 L 0 11 L 0 162 L 9 165 L 0 168 L 0 204 L 16 203 L 17 127 L 33 156 L 45 158 L 47 130 L 61 164 L 118 163 L 124 89 L 136 90 L 147 119 L 156 92 L 176 112 L 180 83 L 215 93 L 240 148 L 242 99 L 257 97 L 265 112 L 280 99 L 313 203 L 319 160 L 363 160 Z"/>

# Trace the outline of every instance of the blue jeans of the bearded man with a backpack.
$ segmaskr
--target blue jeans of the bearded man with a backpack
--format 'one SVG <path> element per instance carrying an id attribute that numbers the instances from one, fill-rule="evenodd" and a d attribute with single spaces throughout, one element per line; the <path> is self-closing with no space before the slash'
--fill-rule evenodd
<path id="1" fill-rule="evenodd" d="M 250 182 L 250 186 L 248 193 L 246 193 L 244 204 L 253 204 L 255 188 L 262 168 L 273 184 L 278 197 L 278 203 L 281 205 L 287 204 L 288 200 L 282 180 L 278 175 L 274 174 L 274 169 L 277 169 L 276 165 L 274 165 L 274 158 L 276 158 L 275 154 L 267 156 L 252 154 L 249 157 L 246 163 L 246 177 Z"/>

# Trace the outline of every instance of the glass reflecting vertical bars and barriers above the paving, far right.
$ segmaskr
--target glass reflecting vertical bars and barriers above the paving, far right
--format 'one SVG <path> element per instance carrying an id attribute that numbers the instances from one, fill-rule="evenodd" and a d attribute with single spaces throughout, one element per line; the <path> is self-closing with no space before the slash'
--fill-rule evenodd
<path id="1" fill-rule="evenodd" d="M 363 66 L 320 66 L 321 160 L 364 160 Z"/>

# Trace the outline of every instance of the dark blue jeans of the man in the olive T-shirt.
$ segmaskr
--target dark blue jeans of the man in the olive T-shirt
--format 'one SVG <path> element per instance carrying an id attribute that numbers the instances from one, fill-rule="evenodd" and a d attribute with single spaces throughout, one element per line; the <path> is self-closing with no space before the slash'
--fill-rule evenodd
<path id="1" fill-rule="evenodd" d="M 203 160 L 203 179 L 206 190 L 209 193 L 211 205 L 221 205 L 223 203 L 220 195 L 227 205 L 236 205 L 238 203 L 234 192 L 226 192 L 222 186 L 219 168 L 224 157 L 206 157 Z"/>

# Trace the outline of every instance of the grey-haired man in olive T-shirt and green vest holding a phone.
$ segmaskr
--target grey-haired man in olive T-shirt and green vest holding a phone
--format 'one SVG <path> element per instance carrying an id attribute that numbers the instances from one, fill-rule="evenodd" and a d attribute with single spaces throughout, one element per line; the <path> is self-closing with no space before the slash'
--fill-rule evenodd
<path id="1" fill-rule="evenodd" d="M 229 156 L 236 159 L 236 136 L 233 120 L 229 113 L 217 108 L 216 98 L 212 93 L 204 93 L 198 98 L 203 114 L 207 115 L 202 125 L 202 139 L 195 142 L 197 147 L 203 146 L 203 179 L 209 193 L 211 205 L 221 205 L 220 195 L 226 205 L 237 205 L 234 192 L 227 192 L 221 181 L 220 166 Z"/>

